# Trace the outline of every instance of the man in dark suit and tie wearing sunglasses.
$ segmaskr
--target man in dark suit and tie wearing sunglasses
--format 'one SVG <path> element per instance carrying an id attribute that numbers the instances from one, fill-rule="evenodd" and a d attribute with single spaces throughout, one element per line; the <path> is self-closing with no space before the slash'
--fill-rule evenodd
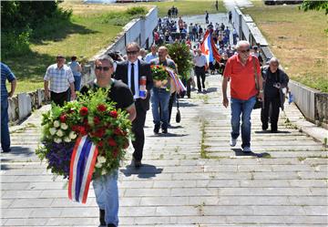
<path id="1" fill-rule="evenodd" d="M 132 142 L 134 148 L 133 162 L 136 168 L 141 166 L 142 150 L 145 143 L 144 126 L 147 110 L 149 110 L 149 90 L 153 87 L 150 65 L 138 59 L 139 50 L 140 47 L 137 43 L 129 43 L 126 46 L 128 60 L 119 62 L 115 72 L 115 78 L 122 80 L 123 83 L 128 85 L 136 100 L 137 118 L 132 122 L 132 131 L 136 138 Z M 146 77 L 146 98 L 139 97 L 139 81 L 141 77 Z"/>

